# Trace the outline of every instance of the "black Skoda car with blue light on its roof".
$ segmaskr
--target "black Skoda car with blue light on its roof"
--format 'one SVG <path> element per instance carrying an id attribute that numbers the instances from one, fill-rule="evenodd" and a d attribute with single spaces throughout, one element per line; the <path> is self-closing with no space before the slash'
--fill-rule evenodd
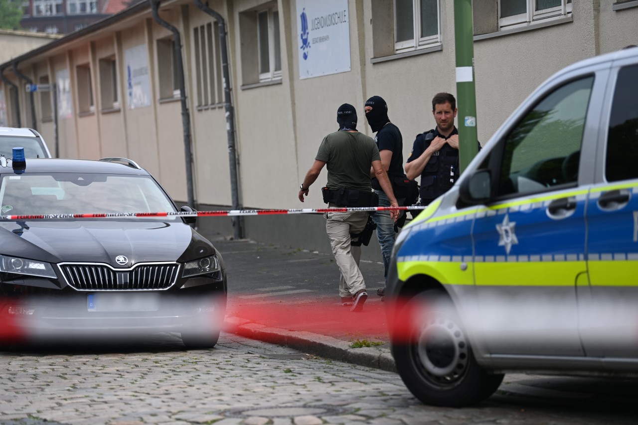
<path id="1" fill-rule="evenodd" d="M 15 165 L 15 158 L 0 163 L 5 324 L 29 339 L 180 332 L 186 347 L 217 343 L 226 271 L 211 242 L 189 225 L 195 216 L 126 216 L 179 212 L 149 172 L 124 158 Z M 124 214 L 62 215 L 83 213 Z M 11 217 L 42 214 L 48 217 Z"/>

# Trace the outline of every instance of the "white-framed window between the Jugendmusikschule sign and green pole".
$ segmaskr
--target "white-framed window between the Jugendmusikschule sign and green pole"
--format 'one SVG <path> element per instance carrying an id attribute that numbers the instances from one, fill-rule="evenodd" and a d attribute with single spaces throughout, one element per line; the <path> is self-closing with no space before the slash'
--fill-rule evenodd
<path id="1" fill-rule="evenodd" d="M 394 48 L 397 53 L 441 42 L 440 0 L 394 0 Z"/>

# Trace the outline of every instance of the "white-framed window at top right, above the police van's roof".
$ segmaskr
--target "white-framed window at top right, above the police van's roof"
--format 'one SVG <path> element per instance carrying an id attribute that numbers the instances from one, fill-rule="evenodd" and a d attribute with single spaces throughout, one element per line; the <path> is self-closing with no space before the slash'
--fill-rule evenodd
<path id="1" fill-rule="evenodd" d="M 498 0 L 498 25 L 510 29 L 571 15 L 572 0 Z"/>

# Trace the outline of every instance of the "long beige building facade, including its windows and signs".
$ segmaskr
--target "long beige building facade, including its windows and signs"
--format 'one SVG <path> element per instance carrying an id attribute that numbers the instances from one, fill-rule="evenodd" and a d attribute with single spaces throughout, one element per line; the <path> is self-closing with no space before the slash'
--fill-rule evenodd
<path id="1" fill-rule="evenodd" d="M 24 75 L 57 84 L 57 105 L 50 93 L 34 96 L 38 130 L 46 140 L 54 140 L 57 108 L 57 156 L 126 156 L 185 202 L 188 140 L 197 207 L 228 208 L 233 204 L 230 125 L 239 205 L 299 208 L 299 183 L 322 138 L 337 130 L 341 103 L 359 108 L 358 128 L 372 135 L 363 104 L 382 96 L 403 133 L 406 160 L 415 136 L 435 125 L 433 95 L 456 94 L 454 1 L 211 0 L 209 8 L 226 26 L 234 110 L 228 123 L 219 23 L 196 3 L 156 3 L 159 17 L 179 32 L 187 110 L 175 34 L 154 19 L 150 0 L 17 58 Z M 636 0 L 475 0 L 473 22 L 482 143 L 555 71 L 638 44 Z M 8 63 L 0 64 L 0 71 L 20 86 Z M 15 123 L 20 110 L 28 125 L 29 94 L 19 90 L 15 102 L 11 90 L 0 82 L 7 119 Z M 320 193 L 325 178 L 320 175 L 304 207 L 325 205 Z M 202 218 L 200 227 L 232 234 L 228 218 Z M 320 216 L 249 217 L 242 233 L 330 249 Z M 371 257 L 378 260 L 376 253 Z"/>

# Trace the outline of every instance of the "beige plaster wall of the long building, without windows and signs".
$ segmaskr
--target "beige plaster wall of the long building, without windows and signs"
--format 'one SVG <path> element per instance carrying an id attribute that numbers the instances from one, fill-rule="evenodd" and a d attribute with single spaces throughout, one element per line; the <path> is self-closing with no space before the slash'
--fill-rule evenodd
<path id="1" fill-rule="evenodd" d="M 288 209 L 325 205 L 320 193 L 325 170 L 311 187 L 305 204 L 300 204 L 297 193 L 322 138 L 337 130 L 336 109 L 342 103 L 357 107 L 358 129 L 373 135 L 364 116 L 364 101 L 382 96 L 390 119 L 403 133 L 403 160 L 407 160 L 415 136 L 434 126 L 431 98 L 440 91 L 456 94 L 454 2 L 440 4 L 440 43 L 395 54 L 392 0 L 348 0 L 350 71 L 302 79 L 297 44 L 300 11 L 295 0 L 209 2 L 226 18 L 242 206 Z M 477 117 L 483 144 L 554 72 L 580 59 L 638 44 L 638 7 L 613 10 L 612 2 L 579 1 L 572 4 L 568 17 L 498 31 L 496 4 L 494 0 L 489 7 L 477 8 L 474 17 Z M 281 78 L 260 82 L 256 13 L 266 9 L 278 11 Z M 189 0 L 163 2 L 160 15 L 177 27 L 182 37 L 195 198 L 200 209 L 228 208 L 232 193 L 216 22 Z M 29 58 L 20 69 L 32 78 L 48 77 L 50 82 L 55 82 L 60 71 L 68 71 L 73 113 L 60 118 L 60 156 L 126 156 L 147 168 L 172 197 L 184 203 L 181 103 L 172 86 L 167 92 L 172 80 L 166 79 L 166 72 L 172 64 L 166 57 L 165 42 L 170 37 L 172 33 L 152 19 L 150 9 L 140 8 Z M 148 59 L 150 101 L 144 107 L 131 108 L 126 55 L 140 46 Z M 108 94 L 103 73 L 107 68 L 100 66 L 109 57 L 117 64 L 118 101 L 112 105 L 104 103 Z M 82 112 L 77 84 L 83 78 L 78 77 L 78 66 L 84 65 L 90 69 L 94 108 Z M 12 71 L 6 70 L 4 75 L 17 82 Z M 8 100 L 6 84 L 0 83 L 0 89 Z M 29 112 L 27 107 L 26 93 L 21 91 L 23 119 Z M 36 110 L 41 116 L 40 94 Z M 52 119 L 40 117 L 38 127 L 51 146 Z M 244 230 L 254 239 L 325 251 L 329 244 L 322 223 L 321 217 L 308 214 L 260 216 L 245 218 Z M 200 219 L 199 226 L 211 234 L 232 234 L 229 218 Z M 378 258 L 378 247 L 367 252 L 368 258 Z"/>

